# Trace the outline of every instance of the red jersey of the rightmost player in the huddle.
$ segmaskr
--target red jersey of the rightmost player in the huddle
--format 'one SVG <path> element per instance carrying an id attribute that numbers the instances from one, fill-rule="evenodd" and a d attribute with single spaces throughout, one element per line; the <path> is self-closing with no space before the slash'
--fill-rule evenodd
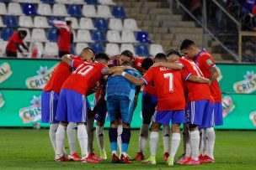
<path id="1" fill-rule="evenodd" d="M 202 49 L 199 54 L 195 56 L 195 64 L 197 64 L 204 74 L 205 78 L 210 79 L 211 67 L 215 67 L 216 64 L 205 49 Z M 215 102 L 221 102 L 221 88 L 217 80 L 213 81 L 210 87 L 211 95 L 213 96 Z"/>

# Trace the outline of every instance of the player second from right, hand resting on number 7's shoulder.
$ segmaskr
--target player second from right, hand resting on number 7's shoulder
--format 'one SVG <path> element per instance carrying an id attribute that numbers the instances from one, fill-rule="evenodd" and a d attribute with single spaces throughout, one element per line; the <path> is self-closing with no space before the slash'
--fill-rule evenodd
<path id="1" fill-rule="evenodd" d="M 179 50 L 171 49 L 167 54 L 168 62 L 178 62 L 184 66 L 181 71 L 187 71 L 190 75 L 204 77 L 198 66 L 191 60 L 182 58 L 182 54 Z M 172 69 L 172 65 L 169 63 L 160 63 L 161 66 Z M 179 164 L 194 164 L 199 165 L 199 146 L 200 146 L 200 132 L 199 126 L 211 127 L 211 119 L 206 120 L 207 117 L 211 117 L 212 111 L 209 110 L 211 92 L 209 85 L 197 84 L 192 81 L 185 81 L 185 90 L 188 93 L 187 97 L 187 123 L 189 124 L 189 146 L 187 147 L 186 157 L 184 160 L 178 161 Z M 210 116 L 208 116 L 210 114 Z M 191 147 L 190 147 L 191 145 Z M 190 149 L 190 148 L 191 149 Z"/>

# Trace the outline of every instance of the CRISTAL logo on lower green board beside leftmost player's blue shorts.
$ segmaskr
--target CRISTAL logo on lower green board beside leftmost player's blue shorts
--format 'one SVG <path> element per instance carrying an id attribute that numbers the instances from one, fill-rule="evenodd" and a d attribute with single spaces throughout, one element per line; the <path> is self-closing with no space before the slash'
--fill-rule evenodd
<path id="1" fill-rule="evenodd" d="M 33 96 L 30 101 L 31 106 L 21 108 L 19 110 L 19 117 L 24 124 L 40 121 L 41 119 L 41 96 Z"/>

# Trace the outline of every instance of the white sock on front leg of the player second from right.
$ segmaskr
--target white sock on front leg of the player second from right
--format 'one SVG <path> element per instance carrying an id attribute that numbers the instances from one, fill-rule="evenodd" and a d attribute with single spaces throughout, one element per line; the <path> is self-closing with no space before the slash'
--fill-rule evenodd
<path id="1" fill-rule="evenodd" d="M 199 157 L 199 143 L 200 143 L 200 134 L 199 131 L 190 131 L 190 143 L 192 150 L 192 159 L 198 161 Z"/>

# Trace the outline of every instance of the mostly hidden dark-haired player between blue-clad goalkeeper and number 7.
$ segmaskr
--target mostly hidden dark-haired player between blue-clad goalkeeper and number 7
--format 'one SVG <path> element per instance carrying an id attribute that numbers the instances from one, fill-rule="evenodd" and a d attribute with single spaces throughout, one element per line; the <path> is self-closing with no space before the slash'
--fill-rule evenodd
<path id="1" fill-rule="evenodd" d="M 144 75 L 146 71 L 154 63 L 152 58 L 138 58 L 134 57 L 134 66 L 136 70 L 139 70 L 141 75 Z M 135 157 L 136 160 L 144 160 L 145 148 L 147 145 L 147 137 L 149 131 L 149 125 L 151 124 L 152 116 L 155 113 L 157 106 L 157 94 L 153 84 L 145 85 L 142 92 L 142 125 L 139 137 L 139 152 Z M 169 144 L 170 144 L 170 126 L 163 125 L 163 160 L 167 161 L 169 156 Z"/>

